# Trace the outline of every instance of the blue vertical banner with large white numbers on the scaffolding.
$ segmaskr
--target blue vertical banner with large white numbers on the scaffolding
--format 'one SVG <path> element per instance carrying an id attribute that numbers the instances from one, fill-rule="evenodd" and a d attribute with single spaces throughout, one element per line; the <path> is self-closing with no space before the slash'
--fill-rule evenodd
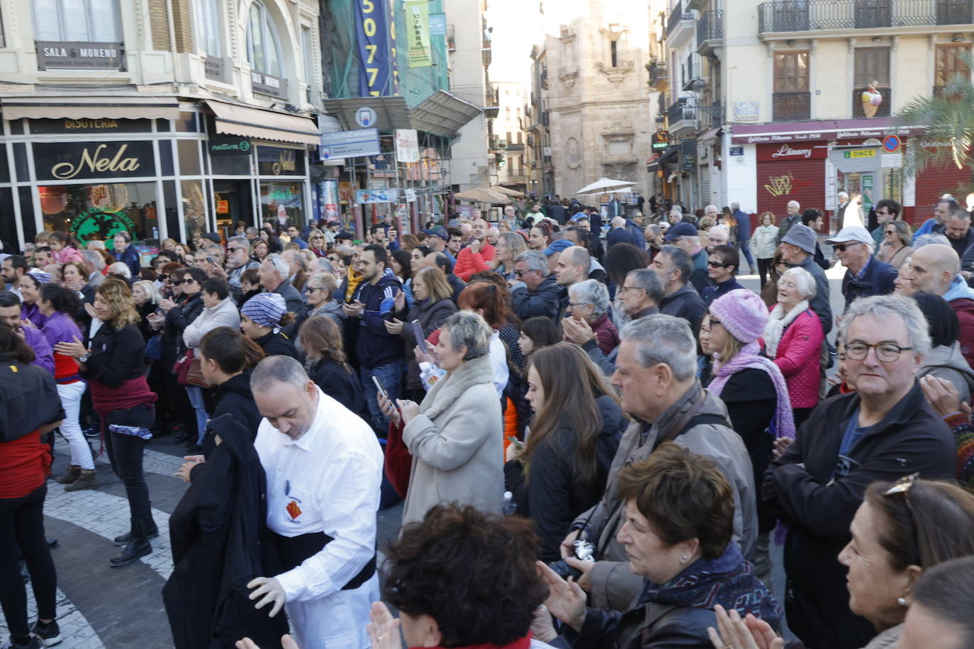
<path id="1" fill-rule="evenodd" d="M 393 94 L 390 13 L 386 0 L 355 0 L 358 43 L 358 94 Z"/>

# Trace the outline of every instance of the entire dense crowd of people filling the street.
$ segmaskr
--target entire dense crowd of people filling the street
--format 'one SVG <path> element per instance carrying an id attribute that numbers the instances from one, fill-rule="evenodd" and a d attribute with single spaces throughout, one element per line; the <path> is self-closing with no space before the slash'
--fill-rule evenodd
<path id="1" fill-rule="evenodd" d="M 914 239 L 895 201 L 874 232 L 850 208 L 826 259 L 796 201 L 753 233 L 735 203 L 607 232 L 560 207 L 361 240 L 241 223 L 144 267 L 124 233 L 6 256 L 12 646 L 62 637 L 56 434 L 52 488 L 99 488 L 96 438 L 125 487 L 113 567 L 159 535 L 146 445 L 185 445 L 163 592 L 180 648 L 749 649 L 784 646 L 784 621 L 811 649 L 972 646 L 970 213 L 942 201 Z M 44 406 L 22 419 L 17 383 Z M 383 563 L 376 514 L 400 501 Z"/>

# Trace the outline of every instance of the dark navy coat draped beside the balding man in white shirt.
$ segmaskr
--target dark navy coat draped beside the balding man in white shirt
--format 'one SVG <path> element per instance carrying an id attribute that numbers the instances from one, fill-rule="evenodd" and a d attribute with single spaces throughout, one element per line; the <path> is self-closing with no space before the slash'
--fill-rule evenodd
<path id="1" fill-rule="evenodd" d="M 285 616 L 254 609 L 246 584 L 275 574 L 262 557 L 267 535 L 266 478 L 252 436 L 233 415 L 211 419 L 220 443 L 204 471 L 169 517 L 174 568 L 163 588 L 172 639 L 179 649 L 232 647 L 246 636 L 258 646 L 280 646 Z"/>

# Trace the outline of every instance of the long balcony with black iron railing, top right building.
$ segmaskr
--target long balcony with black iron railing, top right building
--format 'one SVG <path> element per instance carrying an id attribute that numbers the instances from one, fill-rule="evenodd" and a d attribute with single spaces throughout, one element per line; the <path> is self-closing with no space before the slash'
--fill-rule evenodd
<path id="1" fill-rule="evenodd" d="M 969 25 L 974 0 L 778 0 L 758 6 L 758 33 Z"/>

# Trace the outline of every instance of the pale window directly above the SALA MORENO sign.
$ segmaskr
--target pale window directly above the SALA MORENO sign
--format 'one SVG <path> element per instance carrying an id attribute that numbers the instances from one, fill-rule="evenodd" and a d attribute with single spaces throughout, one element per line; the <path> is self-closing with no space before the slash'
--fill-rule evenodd
<path id="1" fill-rule="evenodd" d="M 38 41 L 120 43 L 116 0 L 34 0 Z"/>

